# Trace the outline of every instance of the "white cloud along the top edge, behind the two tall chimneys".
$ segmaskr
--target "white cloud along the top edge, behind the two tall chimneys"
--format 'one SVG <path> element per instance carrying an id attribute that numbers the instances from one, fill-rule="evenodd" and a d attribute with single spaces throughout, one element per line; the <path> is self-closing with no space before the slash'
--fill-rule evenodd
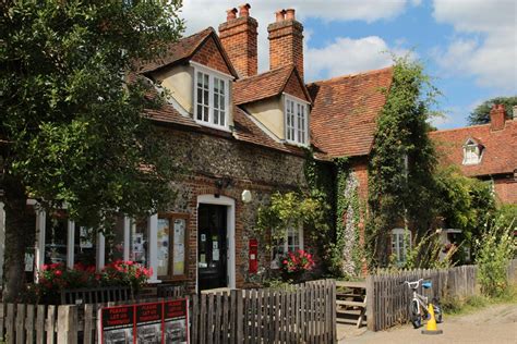
<path id="1" fill-rule="evenodd" d="M 226 21 L 226 10 L 245 3 L 242 1 L 184 0 L 181 17 L 185 19 L 187 35 L 207 26 L 216 30 Z M 296 9 L 297 19 L 303 23 L 309 17 L 323 21 L 364 21 L 368 23 L 390 20 L 401 14 L 409 5 L 420 4 L 420 0 L 261 0 L 249 1 L 251 16 L 258 22 L 258 70 L 268 70 L 267 25 L 275 21 L 275 11 Z M 305 41 L 310 33 L 304 32 Z"/>

